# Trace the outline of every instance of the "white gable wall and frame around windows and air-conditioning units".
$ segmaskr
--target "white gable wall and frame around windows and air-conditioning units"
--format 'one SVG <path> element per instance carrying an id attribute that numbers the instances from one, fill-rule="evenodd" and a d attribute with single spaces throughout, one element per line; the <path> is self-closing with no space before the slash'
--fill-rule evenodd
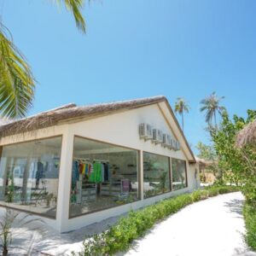
<path id="1" fill-rule="evenodd" d="M 181 144 L 182 150 L 175 152 L 168 148 L 162 147 L 160 144 L 155 145 L 150 141 L 145 142 L 144 140 L 140 139 L 138 134 L 138 125 L 143 122 L 148 123 L 154 128 L 158 128 L 163 132 L 169 133 L 173 137 L 176 137 Z M 51 137 L 60 134 L 62 134 L 63 137 L 57 218 L 56 220 L 49 220 L 49 224 L 61 232 L 78 229 L 84 225 L 101 221 L 104 218 L 119 215 L 123 212 L 130 211 L 131 209 L 136 210 L 139 207 L 147 206 L 155 201 L 160 201 L 163 198 L 195 189 L 197 186 L 197 183 L 195 182 L 195 166 L 189 165 L 189 160 L 192 160 L 191 154 L 189 153 L 189 149 L 185 146 L 183 137 L 181 137 L 179 134 L 177 125 L 175 124 L 169 110 L 166 108 L 165 103 L 162 105 L 154 104 L 143 108 L 131 109 L 122 113 L 114 113 L 108 116 L 98 117 L 96 119 L 73 122 L 66 125 L 57 125 L 47 129 L 42 129 L 35 134 L 26 133 L 22 136 L 5 137 L 0 140 L 0 145 L 17 143 L 42 137 Z M 106 143 L 113 143 L 122 147 L 141 150 L 141 155 L 143 155 L 143 151 L 147 151 L 154 154 L 161 154 L 186 160 L 189 186 L 186 189 L 180 189 L 166 193 L 165 195 L 158 195 L 143 201 L 137 201 L 124 206 L 113 207 L 101 212 L 94 212 L 77 218 L 69 219 L 68 209 L 73 158 L 73 137 L 75 135 Z M 140 166 L 143 166 L 143 162 L 140 163 Z M 143 174 L 141 174 L 141 177 L 143 177 Z"/>

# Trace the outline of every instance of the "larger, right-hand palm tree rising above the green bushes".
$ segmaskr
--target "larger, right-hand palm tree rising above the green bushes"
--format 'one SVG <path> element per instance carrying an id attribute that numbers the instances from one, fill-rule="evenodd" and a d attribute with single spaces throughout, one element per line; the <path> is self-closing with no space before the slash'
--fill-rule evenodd
<path id="1" fill-rule="evenodd" d="M 206 122 L 212 125 L 212 119 L 214 119 L 215 128 L 217 128 L 217 113 L 221 114 L 224 111 L 224 107 L 220 106 L 220 102 L 224 99 L 224 96 L 217 96 L 215 91 L 210 96 L 207 96 L 201 100 L 202 107 L 201 112 L 206 111 Z"/>

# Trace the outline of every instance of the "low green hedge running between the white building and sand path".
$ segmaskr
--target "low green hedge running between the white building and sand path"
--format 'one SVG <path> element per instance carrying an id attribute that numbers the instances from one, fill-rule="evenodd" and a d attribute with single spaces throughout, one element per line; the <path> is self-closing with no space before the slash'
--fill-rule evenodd
<path id="1" fill-rule="evenodd" d="M 232 186 L 207 187 L 191 194 L 178 195 L 145 207 L 137 212 L 130 212 L 125 218 L 109 230 L 92 237 L 87 237 L 83 242 L 83 251 L 73 253 L 78 256 L 113 255 L 125 251 L 131 246 L 131 242 L 144 236 L 147 230 L 154 224 L 169 215 L 178 212 L 189 204 L 204 200 L 209 196 L 237 191 L 239 188 Z M 219 192 L 221 191 L 221 193 Z"/>

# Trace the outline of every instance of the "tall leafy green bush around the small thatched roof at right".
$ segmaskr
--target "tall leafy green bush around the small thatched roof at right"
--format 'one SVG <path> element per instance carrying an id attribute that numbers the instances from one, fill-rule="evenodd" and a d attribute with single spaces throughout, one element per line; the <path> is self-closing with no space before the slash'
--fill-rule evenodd
<path id="1" fill-rule="evenodd" d="M 248 110 L 247 119 L 242 119 L 234 115 L 230 119 L 228 113 L 224 112 L 222 115 L 222 123 L 218 130 L 210 130 L 214 148 L 218 154 L 218 168 L 220 170 L 218 181 L 244 184 L 243 192 L 247 196 L 249 191 L 251 199 L 256 200 L 255 184 L 256 184 L 256 170 L 253 163 L 256 162 L 256 155 L 250 148 L 236 148 L 236 134 L 245 125 L 256 119 L 256 111 Z M 248 163 L 251 163 L 249 165 Z M 247 191 L 248 190 L 248 191 Z"/>

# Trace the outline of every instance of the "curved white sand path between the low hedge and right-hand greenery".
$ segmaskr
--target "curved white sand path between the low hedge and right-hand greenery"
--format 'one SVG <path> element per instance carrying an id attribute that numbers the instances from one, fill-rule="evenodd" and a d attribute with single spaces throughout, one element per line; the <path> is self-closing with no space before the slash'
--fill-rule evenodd
<path id="1" fill-rule="evenodd" d="M 255 256 L 243 241 L 243 201 L 236 192 L 185 207 L 155 225 L 125 255 Z"/>

